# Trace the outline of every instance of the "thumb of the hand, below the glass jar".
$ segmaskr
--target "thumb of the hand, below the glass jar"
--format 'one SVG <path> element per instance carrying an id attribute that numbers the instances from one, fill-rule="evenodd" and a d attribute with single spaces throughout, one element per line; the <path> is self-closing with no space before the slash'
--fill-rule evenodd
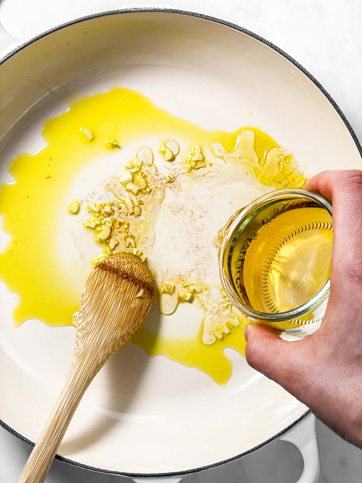
<path id="1" fill-rule="evenodd" d="M 265 327 L 248 324 L 244 329 L 248 364 L 283 386 L 298 398 L 310 377 L 308 347 L 311 336 L 301 341 L 283 341 Z"/>

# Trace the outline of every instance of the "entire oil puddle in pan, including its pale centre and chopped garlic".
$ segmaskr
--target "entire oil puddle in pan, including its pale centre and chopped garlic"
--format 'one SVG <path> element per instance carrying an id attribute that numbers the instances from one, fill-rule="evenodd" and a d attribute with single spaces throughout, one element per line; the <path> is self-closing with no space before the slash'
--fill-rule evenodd
<path id="1" fill-rule="evenodd" d="M 129 251 L 158 287 L 132 342 L 225 384 L 223 350 L 244 353 L 247 321 L 221 289 L 217 232 L 265 192 L 304 186 L 293 155 L 258 128 L 208 131 L 121 87 L 71 101 L 42 136 L 0 185 L 0 280 L 18 296 L 15 326 L 75 324 L 92 266 Z"/>

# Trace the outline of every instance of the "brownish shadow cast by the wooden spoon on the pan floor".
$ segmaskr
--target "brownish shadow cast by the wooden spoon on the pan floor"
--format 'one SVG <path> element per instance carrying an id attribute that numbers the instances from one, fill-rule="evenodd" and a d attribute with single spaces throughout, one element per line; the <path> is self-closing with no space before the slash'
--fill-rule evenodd
<path id="1" fill-rule="evenodd" d="M 152 327 L 153 344 L 157 339 L 160 323 L 161 313 L 158 309 L 157 297 L 155 297 L 150 312 L 143 322 L 148 327 Z M 149 360 L 150 356 L 132 342 L 126 343 L 111 357 L 102 369 L 103 377 L 107 379 L 108 397 L 106 402 L 102 403 L 102 408 L 99 408 L 99 418 L 93 422 L 89 421 L 87 430 L 76 438 L 64 441 L 61 445 L 62 455 L 74 457 L 74 454 L 93 445 L 111 431 L 115 425 L 122 422 L 122 415 L 129 412 L 133 401 L 137 398 L 137 392 L 142 384 Z M 96 377 L 99 377 L 99 375 Z M 111 412 L 114 412 L 114 414 L 112 415 Z"/>

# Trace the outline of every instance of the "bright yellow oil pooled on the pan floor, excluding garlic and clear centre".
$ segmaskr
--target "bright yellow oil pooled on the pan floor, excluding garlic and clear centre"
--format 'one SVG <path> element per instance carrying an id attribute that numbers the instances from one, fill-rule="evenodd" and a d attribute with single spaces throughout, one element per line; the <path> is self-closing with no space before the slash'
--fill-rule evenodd
<path id="1" fill-rule="evenodd" d="M 81 133 L 84 126 L 95 132 L 91 142 Z M 19 297 L 13 313 L 15 326 L 33 318 L 50 326 L 67 326 L 78 309 L 92 260 L 80 257 L 75 270 L 71 264 L 62 263 L 54 247 L 59 236 L 59 214 L 68 210 L 70 201 L 64 199 L 64 186 L 73 183 L 84 168 L 99 157 L 106 162 L 109 156 L 120 156 L 127 143 L 137 140 L 141 146 L 144 138 L 154 134 L 160 140 L 182 137 L 190 146 L 221 143 L 224 151 L 220 157 L 240 162 L 235 147 L 243 129 L 205 130 L 167 113 L 142 94 L 121 87 L 71 101 L 67 112 L 47 120 L 42 128 L 44 146 L 35 153 L 16 156 L 8 168 L 14 183 L 0 185 L 2 229 L 10 235 L 0 253 L 0 280 Z M 305 179 L 292 157 L 283 162 L 273 155 L 275 162 L 266 162 L 268 153 L 282 148 L 260 129 L 247 129 L 255 138 L 256 153 L 247 174 L 260 179 L 263 185 L 303 186 Z M 106 148 L 109 138 L 116 140 L 121 151 Z M 277 154 L 280 156 L 280 152 Z M 211 345 L 201 341 L 201 332 L 194 338 L 167 339 L 142 327 L 132 341 L 151 356 L 165 355 L 224 384 L 232 367 L 223 349 L 231 347 L 244 354 L 244 323 L 241 320 L 230 335 Z"/>

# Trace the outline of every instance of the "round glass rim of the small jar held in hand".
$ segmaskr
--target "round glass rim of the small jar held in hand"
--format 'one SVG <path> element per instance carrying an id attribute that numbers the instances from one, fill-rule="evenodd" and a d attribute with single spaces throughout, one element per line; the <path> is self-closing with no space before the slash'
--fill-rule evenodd
<path id="1" fill-rule="evenodd" d="M 247 305 L 245 305 L 237 291 L 235 290 L 232 282 L 231 277 L 228 273 L 226 273 L 225 267 L 225 257 L 228 256 L 231 242 L 233 241 L 238 228 L 240 225 L 245 221 L 248 216 L 250 216 L 254 211 L 258 209 L 261 205 L 263 205 L 269 199 L 273 199 L 273 202 L 277 201 L 291 201 L 292 199 L 309 199 L 311 201 L 318 202 L 321 207 L 324 207 L 328 213 L 332 216 L 332 204 L 330 201 L 322 197 L 321 195 L 314 193 L 312 191 L 308 191 L 306 189 L 300 188 L 285 188 L 280 190 L 271 191 L 254 201 L 252 201 L 249 205 L 242 208 L 239 212 L 237 212 L 230 220 L 229 225 L 227 226 L 226 233 L 223 234 L 222 240 L 219 245 L 219 270 L 220 270 L 220 278 L 221 283 L 223 285 L 223 289 L 226 293 L 226 296 L 229 300 L 245 315 L 247 315 L 252 320 L 261 320 L 269 323 L 277 323 L 277 322 L 284 322 L 291 319 L 297 319 L 298 317 L 312 311 L 316 307 L 318 307 L 326 298 L 329 296 L 330 292 L 330 278 L 328 278 L 327 282 L 323 285 L 320 291 L 313 297 L 310 298 L 305 304 L 296 307 L 293 310 L 287 312 L 278 312 L 278 313 L 268 313 L 268 312 L 258 312 Z M 227 264 L 226 264 L 227 266 Z"/>

